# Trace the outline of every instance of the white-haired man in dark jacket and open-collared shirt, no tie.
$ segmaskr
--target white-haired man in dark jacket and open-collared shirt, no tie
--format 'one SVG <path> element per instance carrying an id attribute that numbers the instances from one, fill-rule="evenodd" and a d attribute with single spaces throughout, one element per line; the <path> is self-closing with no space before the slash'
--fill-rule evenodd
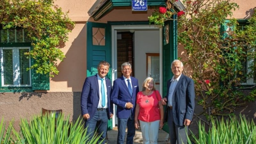
<path id="1" fill-rule="evenodd" d="M 167 96 L 162 99 L 166 105 L 167 123 L 171 144 L 187 144 L 188 126 L 195 108 L 194 81 L 182 74 L 183 63 L 180 60 L 172 62 L 172 79 L 167 81 Z"/>

